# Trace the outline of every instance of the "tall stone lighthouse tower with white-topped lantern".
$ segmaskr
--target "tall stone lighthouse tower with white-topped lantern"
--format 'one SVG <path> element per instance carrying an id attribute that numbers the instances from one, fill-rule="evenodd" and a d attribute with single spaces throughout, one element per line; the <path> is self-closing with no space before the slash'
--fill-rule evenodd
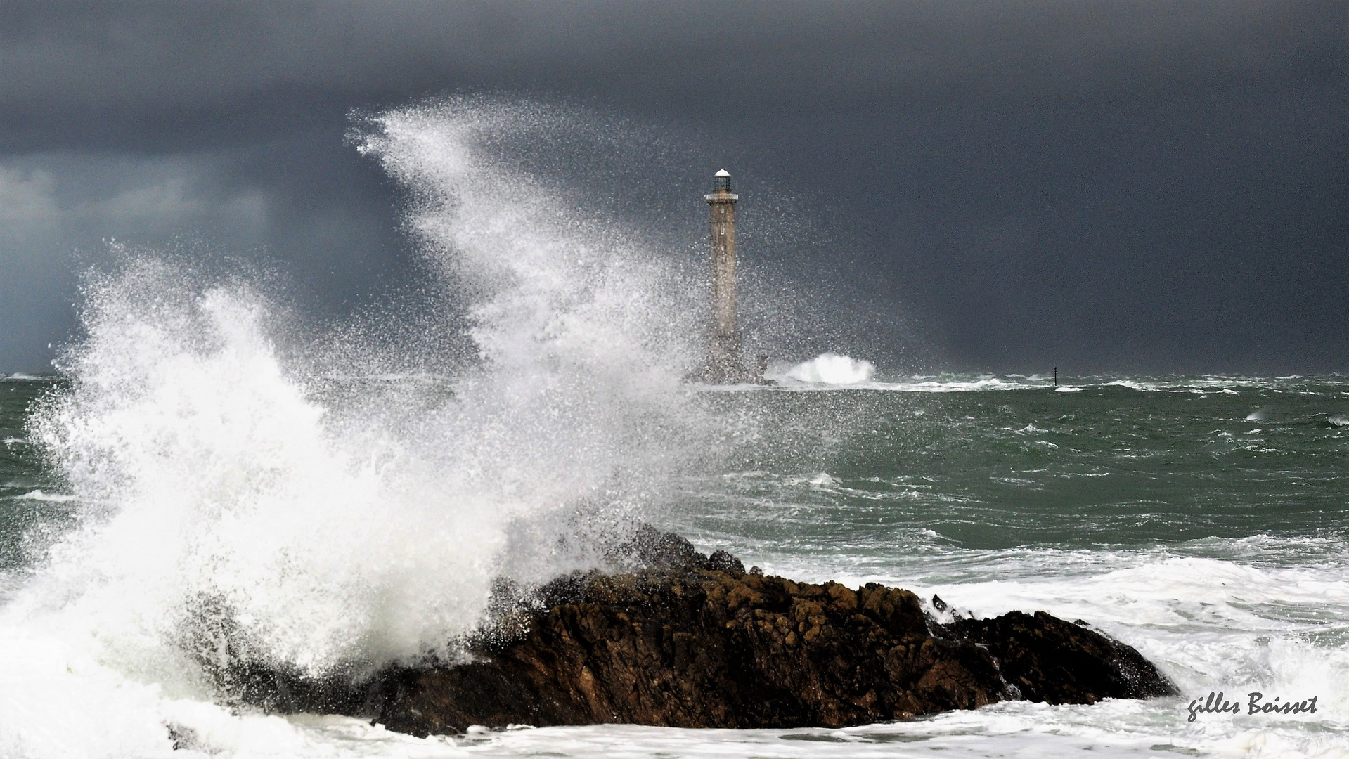
<path id="1" fill-rule="evenodd" d="M 731 174 L 722 169 L 712 179 L 712 322 L 707 341 L 708 382 L 751 379 L 741 364 L 741 330 L 735 324 L 735 201 Z"/>

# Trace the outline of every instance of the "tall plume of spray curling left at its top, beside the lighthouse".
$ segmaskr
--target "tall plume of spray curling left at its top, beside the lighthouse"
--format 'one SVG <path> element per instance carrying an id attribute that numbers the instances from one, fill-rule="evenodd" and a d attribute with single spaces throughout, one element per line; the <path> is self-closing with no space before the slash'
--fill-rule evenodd
<path id="1" fill-rule="evenodd" d="M 409 229 L 469 302 L 480 361 L 457 377 L 445 426 L 467 442 L 456 458 L 491 473 L 473 488 L 505 488 L 509 499 L 554 487 L 549 500 L 585 522 L 650 502 L 665 473 L 715 457 L 724 430 L 683 383 L 700 357 L 701 311 L 689 307 L 679 267 L 495 150 L 541 131 L 575 136 L 572 119 L 452 98 L 363 117 L 352 139 L 407 189 Z M 553 518 L 544 511 L 517 524 L 500 555 L 517 578 L 558 570 L 523 547 L 556 550 L 544 547 L 552 528 L 540 538 Z"/>

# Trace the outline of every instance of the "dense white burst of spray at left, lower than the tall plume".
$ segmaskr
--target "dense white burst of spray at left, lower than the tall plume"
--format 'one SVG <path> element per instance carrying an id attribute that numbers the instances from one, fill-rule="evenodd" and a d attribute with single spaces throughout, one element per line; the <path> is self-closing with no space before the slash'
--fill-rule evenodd
<path id="1" fill-rule="evenodd" d="M 471 626 L 499 510 L 437 493 L 455 483 L 432 477 L 417 441 L 344 448 L 278 360 L 266 305 L 192 284 L 156 259 L 107 283 L 70 391 L 36 417 L 85 508 L 53 551 L 77 604 L 107 604 L 107 635 L 154 647 L 209 599 L 259 655 L 306 670 L 413 655 Z"/>

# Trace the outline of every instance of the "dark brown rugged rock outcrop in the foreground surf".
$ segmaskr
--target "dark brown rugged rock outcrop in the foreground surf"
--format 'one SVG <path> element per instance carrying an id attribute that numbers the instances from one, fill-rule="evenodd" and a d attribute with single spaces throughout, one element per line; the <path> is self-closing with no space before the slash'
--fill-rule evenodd
<path id="1" fill-rule="evenodd" d="M 681 538 L 646 539 L 645 569 L 553 582 L 506 626 L 514 632 L 472 643 L 469 663 L 384 670 L 360 685 L 274 677 L 285 697 L 272 705 L 425 735 L 472 724 L 842 727 L 1006 698 L 1175 693 L 1129 646 L 1044 612 L 939 624 L 908 590 L 765 577 Z"/>

